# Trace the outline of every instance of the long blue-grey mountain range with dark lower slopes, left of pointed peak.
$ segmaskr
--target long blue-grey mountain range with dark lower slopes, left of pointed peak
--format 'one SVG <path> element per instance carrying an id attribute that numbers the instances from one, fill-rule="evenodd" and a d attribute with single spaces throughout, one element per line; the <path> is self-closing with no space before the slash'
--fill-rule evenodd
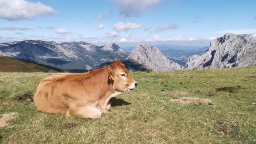
<path id="1" fill-rule="evenodd" d="M 123 60 L 127 57 L 127 54 L 115 43 L 99 47 L 85 42 L 59 44 L 41 40 L 0 43 L 0 55 L 35 61 L 69 71 L 89 70 L 103 62 Z"/>

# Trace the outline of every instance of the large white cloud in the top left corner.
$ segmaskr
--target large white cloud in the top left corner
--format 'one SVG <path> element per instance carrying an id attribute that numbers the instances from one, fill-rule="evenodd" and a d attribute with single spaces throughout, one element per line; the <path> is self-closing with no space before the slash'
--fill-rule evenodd
<path id="1" fill-rule="evenodd" d="M 53 8 L 40 2 L 26 0 L 0 0 L 0 19 L 9 21 L 34 19 L 36 16 L 46 16 L 56 13 Z"/>

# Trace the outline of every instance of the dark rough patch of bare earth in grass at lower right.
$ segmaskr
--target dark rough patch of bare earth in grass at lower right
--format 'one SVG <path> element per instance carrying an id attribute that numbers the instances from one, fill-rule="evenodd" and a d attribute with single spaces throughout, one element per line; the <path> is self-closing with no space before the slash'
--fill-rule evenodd
<path id="1" fill-rule="evenodd" d="M 218 133 L 221 137 L 232 137 L 237 140 L 242 139 L 242 137 L 237 133 L 238 128 L 230 122 L 217 121 L 214 125 L 214 128 L 216 133 Z"/>

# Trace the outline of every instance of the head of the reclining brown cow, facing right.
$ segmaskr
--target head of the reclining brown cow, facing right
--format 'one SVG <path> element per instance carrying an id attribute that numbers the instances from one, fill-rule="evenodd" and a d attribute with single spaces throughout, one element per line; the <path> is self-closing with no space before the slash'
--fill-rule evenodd
<path id="1" fill-rule="evenodd" d="M 116 91 L 132 91 L 138 85 L 121 61 L 114 61 L 109 66 L 109 80 Z"/>

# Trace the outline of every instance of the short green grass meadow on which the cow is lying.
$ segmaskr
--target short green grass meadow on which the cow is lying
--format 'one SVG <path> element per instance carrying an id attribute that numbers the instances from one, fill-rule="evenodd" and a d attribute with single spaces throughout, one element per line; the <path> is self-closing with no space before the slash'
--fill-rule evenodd
<path id="1" fill-rule="evenodd" d="M 0 114 L 19 113 L 0 129 L 0 143 L 256 143 L 255 67 L 136 72 L 136 90 L 112 99 L 96 120 L 37 111 L 27 99 L 48 75 L 0 73 Z M 225 86 L 234 88 L 216 91 Z M 170 101 L 181 97 L 213 104 Z"/>

